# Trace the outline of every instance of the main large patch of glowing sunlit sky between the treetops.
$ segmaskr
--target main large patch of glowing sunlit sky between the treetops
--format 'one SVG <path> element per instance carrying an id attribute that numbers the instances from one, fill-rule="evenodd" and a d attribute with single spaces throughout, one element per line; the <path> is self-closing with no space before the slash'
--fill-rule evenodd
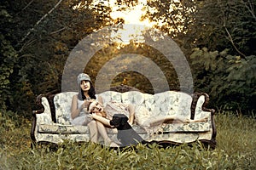
<path id="1" fill-rule="evenodd" d="M 143 42 L 143 31 L 157 24 L 145 17 L 149 9 L 147 0 L 138 0 L 137 4 L 131 6 L 129 4 L 119 4 L 115 0 L 94 1 L 92 4 L 93 6 L 102 4 L 111 8 L 109 15 L 118 24 L 117 30 L 112 32 L 111 37 L 115 42 L 121 44 L 129 44 L 131 39 L 135 42 Z M 119 22 L 119 20 L 123 22 Z"/>

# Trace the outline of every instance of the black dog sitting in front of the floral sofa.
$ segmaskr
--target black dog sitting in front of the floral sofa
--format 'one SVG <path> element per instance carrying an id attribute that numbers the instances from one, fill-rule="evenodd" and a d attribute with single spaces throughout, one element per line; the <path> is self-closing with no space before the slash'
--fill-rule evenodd
<path id="1" fill-rule="evenodd" d="M 143 138 L 135 132 L 127 121 L 128 117 L 124 114 L 114 114 L 110 121 L 110 125 L 118 129 L 117 138 L 121 142 L 121 146 L 144 143 Z"/>

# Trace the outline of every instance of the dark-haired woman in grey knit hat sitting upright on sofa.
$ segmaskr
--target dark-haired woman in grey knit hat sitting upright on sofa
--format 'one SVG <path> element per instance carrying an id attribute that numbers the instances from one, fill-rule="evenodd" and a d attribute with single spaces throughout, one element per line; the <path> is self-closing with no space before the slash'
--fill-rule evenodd
<path id="1" fill-rule="evenodd" d="M 86 111 L 90 99 L 96 99 L 95 88 L 87 74 L 80 73 L 78 76 L 79 94 L 75 94 L 71 105 L 71 118 L 73 125 L 88 126 L 90 130 L 90 141 L 97 142 L 99 133 L 106 144 L 117 147 L 108 137 L 106 128 L 102 122 L 96 122 Z"/>

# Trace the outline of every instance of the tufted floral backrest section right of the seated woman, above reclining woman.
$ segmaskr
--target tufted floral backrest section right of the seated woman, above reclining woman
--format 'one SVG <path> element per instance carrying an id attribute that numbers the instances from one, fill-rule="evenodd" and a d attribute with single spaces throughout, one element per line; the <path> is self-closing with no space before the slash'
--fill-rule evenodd
<path id="1" fill-rule="evenodd" d="M 144 106 L 151 114 L 157 115 L 177 115 L 190 117 L 192 97 L 189 94 L 177 91 L 166 91 L 160 94 L 143 94 L 138 91 L 125 93 L 108 91 L 102 94 L 103 104 L 108 101 L 123 102 Z"/>

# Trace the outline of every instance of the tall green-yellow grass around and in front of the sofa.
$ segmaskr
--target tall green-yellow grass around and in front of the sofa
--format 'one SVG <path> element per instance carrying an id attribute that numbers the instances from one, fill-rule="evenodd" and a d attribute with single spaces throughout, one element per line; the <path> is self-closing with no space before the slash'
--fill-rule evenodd
<path id="1" fill-rule="evenodd" d="M 0 170 L 2 169 L 256 169 L 255 119 L 218 112 L 217 147 L 200 143 L 158 147 L 142 144 L 110 150 L 98 144 L 66 142 L 56 150 L 31 149 L 31 122 L 0 113 Z"/>

